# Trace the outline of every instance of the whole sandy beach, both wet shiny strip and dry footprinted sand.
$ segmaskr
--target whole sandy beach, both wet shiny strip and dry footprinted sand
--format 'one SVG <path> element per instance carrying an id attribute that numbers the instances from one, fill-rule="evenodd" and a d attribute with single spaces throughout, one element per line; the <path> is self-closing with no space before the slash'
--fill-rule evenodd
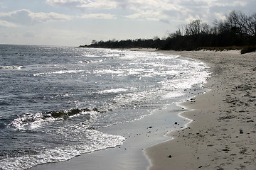
<path id="1" fill-rule="evenodd" d="M 133 50 L 199 60 L 212 74 L 203 89 L 189 89 L 193 96 L 185 103 L 103 130 L 123 135 L 124 145 L 33 170 L 255 169 L 255 52 Z M 170 113 L 180 117 L 174 120 Z"/>

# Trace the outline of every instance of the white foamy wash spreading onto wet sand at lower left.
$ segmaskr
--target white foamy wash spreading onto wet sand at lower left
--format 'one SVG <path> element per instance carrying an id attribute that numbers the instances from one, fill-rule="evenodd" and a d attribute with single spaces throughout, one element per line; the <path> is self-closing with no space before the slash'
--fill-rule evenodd
<path id="1" fill-rule="evenodd" d="M 23 170 L 29 169 L 38 164 L 65 162 L 73 157 L 78 157 L 80 154 L 95 152 L 100 149 L 107 149 L 110 147 L 117 147 L 123 144 L 125 138 L 119 135 L 108 135 L 97 130 L 84 129 L 81 132 L 82 136 L 88 137 L 90 143 L 81 141 L 76 145 L 69 145 L 66 147 L 55 147 L 52 149 L 40 149 L 37 151 L 26 151 L 24 155 L 17 157 L 16 154 L 9 155 L 1 159 L 0 169 L 3 170 Z M 29 154 L 28 154 L 29 152 Z M 21 151 L 18 151 L 20 154 Z"/>

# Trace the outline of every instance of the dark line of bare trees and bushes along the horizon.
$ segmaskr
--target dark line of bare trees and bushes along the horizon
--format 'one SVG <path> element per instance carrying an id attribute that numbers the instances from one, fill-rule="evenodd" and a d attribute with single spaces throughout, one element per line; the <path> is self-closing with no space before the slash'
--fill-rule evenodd
<path id="1" fill-rule="evenodd" d="M 245 52 L 255 51 L 256 45 L 256 13 L 251 16 L 241 11 L 232 11 L 223 21 L 215 21 L 213 26 L 195 20 L 180 26 L 167 38 L 136 40 L 92 40 L 90 45 L 80 47 L 105 48 L 156 48 L 159 50 L 201 50 L 241 47 Z"/>

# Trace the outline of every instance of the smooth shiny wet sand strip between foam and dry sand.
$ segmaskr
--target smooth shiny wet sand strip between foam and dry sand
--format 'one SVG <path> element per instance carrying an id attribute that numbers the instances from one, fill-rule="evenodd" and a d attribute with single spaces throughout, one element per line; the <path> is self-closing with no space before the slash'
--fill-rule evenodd
<path id="1" fill-rule="evenodd" d="M 193 97 L 194 89 L 197 89 L 197 93 L 200 94 L 205 92 L 203 88 L 195 85 L 191 89 L 187 89 L 188 94 L 180 97 L 181 101 Z M 154 113 L 139 120 L 103 128 L 100 132 L 124 136 L 126 138 L 124 144 L 97 152 L 81 154 L 79 157 L 74 157 L 66 162 L 41 164 L 31 168 L 31 170 L 147 169 L 150 162 L 144 152 L 145 148 L 170 140 L 171 137 L 167 136 L 168 132 L 182 129 L 190 121 L 178 115 L 183 111 L 183 107 L 177 106 L 176 102 L 169 103 L 166 108 L 154 111 Z"/>

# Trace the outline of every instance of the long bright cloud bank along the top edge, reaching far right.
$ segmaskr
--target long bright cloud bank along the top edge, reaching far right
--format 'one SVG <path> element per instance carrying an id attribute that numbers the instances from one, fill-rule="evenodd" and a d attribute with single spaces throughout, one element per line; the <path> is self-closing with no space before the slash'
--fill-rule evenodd
<path id="1" fill-rule="evenodd" d="M 212 13 L 212 8 L 222 8 L 222 11 L 228 13 L 230 9 L 236 10 L 248 5 L 248 1 L 241 0 L 46 0 L 46 2 L 51 6 L 100 11 L 98 15 L 100 17 L 92 14 L 92 18 L 103 18 L 101 15 L 104 10 L 110 13 L 107 14 L 107 18 L 112 18 L 113 16 L 110 16 L 112 13 L 126 13 L 124 18 L 164 23 L 191 21 L 191 19 L 211 21 L 214 16 L 223 18 L 220 12 Z"/>

